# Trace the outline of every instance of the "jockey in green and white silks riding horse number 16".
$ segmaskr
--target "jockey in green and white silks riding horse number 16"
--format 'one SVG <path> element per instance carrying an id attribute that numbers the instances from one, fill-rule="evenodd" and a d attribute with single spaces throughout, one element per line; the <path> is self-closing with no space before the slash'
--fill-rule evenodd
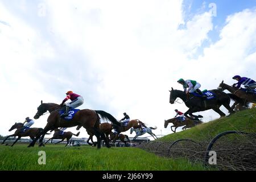
<path id="1" fill-rule="evenodd" d="M 199 89 L 201 87 L 201 85 L 199 84 L 199 82 L 195 81 L 195 80 L 186 80 L 184 81 L 183 78 L 180 78 L 177 81 L 179 84 L 183 85 L 183 89 L 184 92 L 186 94 L 188 93 L 193 93 L 193 92 L 197 92 L 199 93 L 202 97 L 206 97 L 203 92 L 201 92 L 201 90 Z M 188 89 L 187 89 L 188 88 Z"/>

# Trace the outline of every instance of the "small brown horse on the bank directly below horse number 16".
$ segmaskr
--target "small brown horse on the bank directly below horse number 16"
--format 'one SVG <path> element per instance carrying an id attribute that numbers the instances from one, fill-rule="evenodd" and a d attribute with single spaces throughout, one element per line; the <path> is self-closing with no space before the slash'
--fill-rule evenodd
<path id="1" fill-rule="evenodd" d="M 187 117 L 185 117 L 184 121 L 179 121 L 177 118 L 171 118 L 171 119 L 164 120 L 164 128 L 167 128 L 169 123 L 173 123 L 174 124 L 174 125 L 171 126 L 171 130 L 172 130 L 172 127 L 175 127 L 175 130 L 172 130 L 172 131 L 174 133 L 176 133 L 177 127 L 184 126 L 182 128 L 182 130 L 183 130 L 183 129 L 187 129 L 187 128 L 196 126 L 196 125 L 201 124 L 203 122 L 201 122 L 201 121 L 193 121 L 192 119 L 189 119 Z"/>

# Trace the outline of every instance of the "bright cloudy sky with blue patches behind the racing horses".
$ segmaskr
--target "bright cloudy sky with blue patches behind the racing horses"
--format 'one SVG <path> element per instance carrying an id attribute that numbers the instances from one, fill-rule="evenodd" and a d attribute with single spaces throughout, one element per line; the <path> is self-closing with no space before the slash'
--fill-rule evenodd
<path id="1" fill-rule="evenodd" d="M 231 85 L 234 75 L 256 79 L 256 1 L 1 0 L 0 56 L 1 135 L 68 90 L 84 97 L 79 109 L 117 119 L 126 112 L 170 134 L 164 119 L 188 110 L 169 103 L 179 78 L 201 90 Z M 48 115 L 33 127 L 46 126 Z"/>

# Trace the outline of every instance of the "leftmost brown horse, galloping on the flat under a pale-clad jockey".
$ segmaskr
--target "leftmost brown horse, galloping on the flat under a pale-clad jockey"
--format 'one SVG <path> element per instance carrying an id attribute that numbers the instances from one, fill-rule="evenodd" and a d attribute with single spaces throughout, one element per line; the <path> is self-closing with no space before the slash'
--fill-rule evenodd
<path id="1" fill-rule="evenodd" d="M 38 135 L 41 131 L 43 131 L 42 128 L 32 127 L 32 128 L 30 128 L 30 129 L 27 129 L 27 130 L 25 130 L 24 132 L 20 133 L 20 130 L 22 129 L 23 126 L 24 126 L 24 123 L 16 123 L 16 122 L 15 122 L 15 124 L 14 124 L 13 126 L 11 126 L 11 128 L 10 128 L 9 131 L 12 131 L 12 130 L 14 130 L 14 129 L 17 129 L 17 130 L 15 131 L 15 133 L 14 133 L 13 135 L 7 136 L 7 137 L 3 140 L 3 142 L 2 142 L 1 144 L 5 143 L 5 141 L 6 141 L 9 137 L 16 137 L 16 136 L 18 136 L 18 138 L 15 140 L 15 142 L 11 145 L 11 147 L 13 147 L 14 144 L 15 144 L 20 138 L 22 138 L 22 137 L 30 137 L 30 138 L 33 140 L 33 139 L 36 137 L 36 135 Z M 47 134 L 48 134 L 48 133 L 47 133 Z"/>

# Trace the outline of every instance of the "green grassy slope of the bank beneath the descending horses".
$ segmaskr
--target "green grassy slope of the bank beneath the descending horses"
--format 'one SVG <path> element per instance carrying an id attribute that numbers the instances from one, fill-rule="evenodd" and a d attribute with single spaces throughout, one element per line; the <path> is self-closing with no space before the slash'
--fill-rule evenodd
<path id="1" fill-rule="evenodd" d="M 168 127 L 170 127 L 170 123 Z M 192 127 L 179 133 L 166 135 L 158 141 L 168 142 L 177 139 L 194 139 L 197 141 L 209 141 L 217 134 L 228 130 L 256 133 L 256 108 L 237 112 L 230 117 L 216 119 L 201 125 Z"/>

